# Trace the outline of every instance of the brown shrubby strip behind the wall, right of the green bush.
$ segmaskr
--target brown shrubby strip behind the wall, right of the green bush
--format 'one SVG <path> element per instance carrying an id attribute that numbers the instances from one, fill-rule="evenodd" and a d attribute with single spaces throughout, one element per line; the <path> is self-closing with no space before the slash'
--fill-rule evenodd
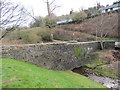
<path id="1" fill-rule="evenodd" d="M 69 41 L 69 40 L 77 40 L 81 42 L 85 41 L 94 41 L 95 36 L 89 35 L 87 33 L 82 33 L 82 32 L 76 32 L 76 31 L 67 31 L 65 29 L 59 29 L 55 28 L 54 29 L 54 39 L 56 40 L 64 40 L 64 41 Z"/>

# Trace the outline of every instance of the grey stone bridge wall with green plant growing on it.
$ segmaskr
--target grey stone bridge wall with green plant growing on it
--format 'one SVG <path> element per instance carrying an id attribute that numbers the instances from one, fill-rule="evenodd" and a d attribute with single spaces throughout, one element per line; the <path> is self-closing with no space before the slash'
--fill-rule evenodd
<path id="1" fill-rule="evenodd" d="M 114 42 L 104 42 L 114 48 Z M 100 49 L 99 42 L 53 42 L 1 46 L 2 57 L 28 62 L 51 70 L 72 70 L 89 63 L 87 56 Z"/>

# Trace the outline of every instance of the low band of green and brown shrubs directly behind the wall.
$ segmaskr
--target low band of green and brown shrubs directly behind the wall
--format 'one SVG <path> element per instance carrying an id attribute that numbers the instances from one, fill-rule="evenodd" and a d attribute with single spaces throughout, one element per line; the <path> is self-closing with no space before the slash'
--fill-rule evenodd
<path id="1" fill-rule="evenodd" d="M 53 34 L 53 37 L 52 37 Z M 52 42 L 54 40 L 79 42 L 95 41 L 96 37 L 84 32 L 68 31 L 62 28 L 30 28 L 24 30 L 15 30 L 2 39 L 2 45 L 13 44 L 36 44 L 42 42 Z M 116 40 L 104 38 L 104 40 Z"/>

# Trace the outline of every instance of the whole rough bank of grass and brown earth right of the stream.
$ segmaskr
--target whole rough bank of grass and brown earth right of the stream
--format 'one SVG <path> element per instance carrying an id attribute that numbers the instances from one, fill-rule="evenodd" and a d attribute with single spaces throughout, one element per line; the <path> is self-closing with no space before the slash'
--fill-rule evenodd
<path id="1" fill-rule="evenodd" d="M 91 63 L 86 64 L 86 66 L 103 76 L 119 78 L 120 73 L 118 72 L 118 66 L 120 61 L 111 60 L 110 58 L 113 58 L 113 56 L 110 51 L 111 50 L 102 50 L 92 53 L 89 58 Z"/>

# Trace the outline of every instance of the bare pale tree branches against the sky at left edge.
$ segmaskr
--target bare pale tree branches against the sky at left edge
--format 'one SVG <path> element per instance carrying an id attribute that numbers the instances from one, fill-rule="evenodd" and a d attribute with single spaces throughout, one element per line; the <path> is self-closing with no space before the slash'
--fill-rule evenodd
<path id="1" fill-rule="evenodd" d="M 5 33 L 2 34 L 1 38 L 6 36 L 7 33 L 14 30 L 14 28 L 25 23 L 26 16 L 24 14 L 25 8 L 21 5 L 14 4 L 7 0 L 0 1 L 0 28 L 6 29 Z"/>

